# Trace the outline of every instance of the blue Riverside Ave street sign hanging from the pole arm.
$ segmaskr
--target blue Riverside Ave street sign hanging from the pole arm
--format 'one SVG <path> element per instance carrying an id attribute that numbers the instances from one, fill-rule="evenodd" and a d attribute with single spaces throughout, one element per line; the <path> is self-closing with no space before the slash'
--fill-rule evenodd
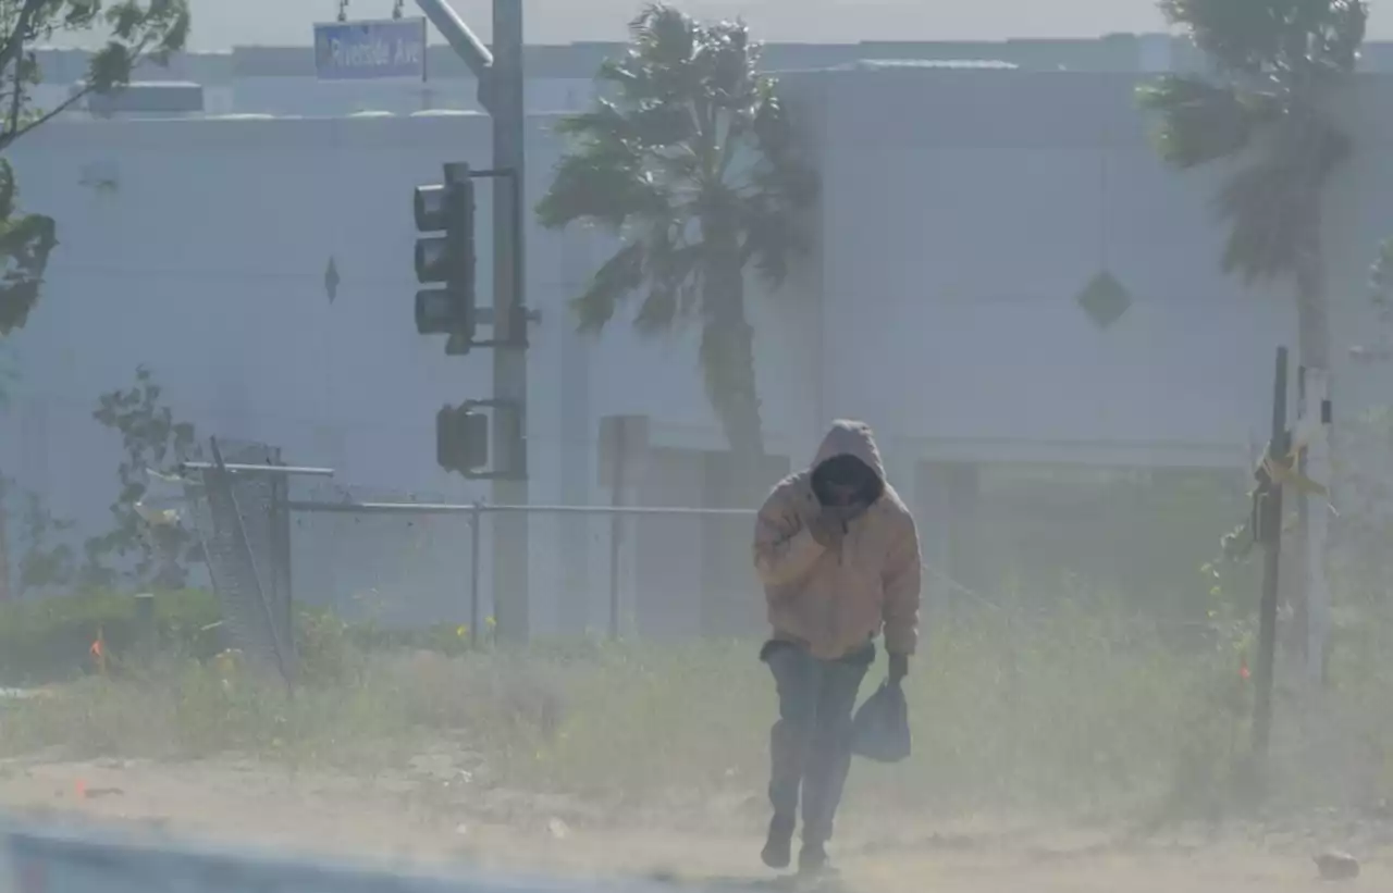
<path id="1" fill-rule="evenodd" d="M 315 74 L 320 81 L 425 81 L 426 20 L 316 24 Z"/>

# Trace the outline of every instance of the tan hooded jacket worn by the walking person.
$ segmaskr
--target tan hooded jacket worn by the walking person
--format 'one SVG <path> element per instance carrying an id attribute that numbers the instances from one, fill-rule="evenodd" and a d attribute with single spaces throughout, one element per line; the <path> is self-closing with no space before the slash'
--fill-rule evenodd
<path id="1" fill-rule="evenodd" d="M 808 524 L 822 510 L 812 469 L 851 454 L 885 482 L 885 464 L 871 428 L 833 425 L 808 471 L 780 482 L 755 522 L 755 568 L 765 585 L 775 637 L 801 642 L 818 658 L 837 659 L 869 642 L 882 627 L 892 653 L 918 645 L 919 536 L 900 496 L 885 483 L 880 499 L 848 525 L 840 549 L 812 538 Z"/>

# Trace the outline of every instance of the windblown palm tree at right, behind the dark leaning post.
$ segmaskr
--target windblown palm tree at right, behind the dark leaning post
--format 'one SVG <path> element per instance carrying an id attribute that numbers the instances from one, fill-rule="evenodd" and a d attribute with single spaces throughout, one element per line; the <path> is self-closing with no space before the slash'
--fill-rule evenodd
<path id="1" fill-rule="evenodd" d="M 1204 77 L 1166 75 L 1138 89 L 1142 109 L 1159 117 L 1160 156 L 1180 170 L 1238 162 L 1215 196 L 1229 224 L 1222 267 L 1250 284 L 1294 283 L 1301 362 L 1316 383 L 1312 396 L 1322 394 L 1329 383 L 1330 326 L 1321 201 L 1330 174 L 1350 155 L 1350 137 L 1330 117 L 1328 99 L 1355 71 L 1368 4 L 1159 0 L 1158 6 L 1209 60 Z M 1309 446 L 1308 474 L 1329 482 L 1323 436 Z M 1311 535 L 1302 606 L 1311 612 L 1325 609 L 1325 511 L 1322 496 L 1307 496 L 1302 538 L 1307 525 Z M 1315 666 L 1322 660 L 1323 628 L 1311 645 L 1308 659 Z"/>

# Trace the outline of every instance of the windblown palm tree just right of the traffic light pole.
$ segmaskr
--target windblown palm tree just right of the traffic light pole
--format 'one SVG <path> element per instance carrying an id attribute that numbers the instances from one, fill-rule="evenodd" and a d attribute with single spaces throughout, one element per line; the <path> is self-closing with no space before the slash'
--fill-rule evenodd
<path id="1" fill-rule="evenodd" d="M 573 301 L 581 330 L 603 329 L 635 295 L 639 333 L 699 323 L 708 397 L 733 451 L 759 456 L 745 272 L 783 281 L 807 249 L 816 177 L 742 22 L 703 25 L 653 4 L 630 33 L 596 75 L 593 107 L 560 123 L 570 149 L 538 217 L 620 237 Z"/>

